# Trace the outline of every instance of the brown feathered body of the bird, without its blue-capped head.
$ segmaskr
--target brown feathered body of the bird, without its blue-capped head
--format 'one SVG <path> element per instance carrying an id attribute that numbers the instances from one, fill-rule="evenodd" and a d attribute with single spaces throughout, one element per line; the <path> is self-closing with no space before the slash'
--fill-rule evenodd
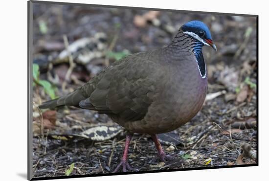
<path id="1" fill-rule="evenodd" d="M 206 69 L 202 77 L 198 66 L 204 64 L 199 58 L 202 51 L 195 51 L 198 44 L 181 28 L 170 45 L 127 56 L 78 90 L 40 108 L 67 105 L 106 113 L 130 133 L 154 136 L 175 130 L 199 112 L 206 95 Z"/>

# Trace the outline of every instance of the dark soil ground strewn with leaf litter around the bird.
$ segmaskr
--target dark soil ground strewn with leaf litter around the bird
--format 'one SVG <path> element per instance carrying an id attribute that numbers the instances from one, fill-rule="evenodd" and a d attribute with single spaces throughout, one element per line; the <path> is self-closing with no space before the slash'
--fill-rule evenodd
<path id="1" fill-rule="evenodd" d="M 34 5 L 33 18 L 34 63 L 56 96 L 80 87 L 125 54 L 167 45 L 183 23 L 208 24 L 218 51 L 203 48 L 209 81 L 204 106 L 184 126 L 159 135 L 165 152 L 175 159 L 160 162 L 151 137 L 135 134 L 129 163 L 139 171 L 256 163 L 239 157 L 242 145 L 257 149 L 255 18 L 45 4 Z M 90 38 L 74 45 L 73 68 L 65 38 L 69 45 Z M 40 113 L 36 105 L 50 97 L 43 86 L 33 87 L 33 176 L 65 176 L 68 169 L 70 175 L 111 173 L 122 156 L 124 130 L 89 110 L 65 107 Z M 101 126 L 115 132 L 96 138 L 90 128 Z"/>

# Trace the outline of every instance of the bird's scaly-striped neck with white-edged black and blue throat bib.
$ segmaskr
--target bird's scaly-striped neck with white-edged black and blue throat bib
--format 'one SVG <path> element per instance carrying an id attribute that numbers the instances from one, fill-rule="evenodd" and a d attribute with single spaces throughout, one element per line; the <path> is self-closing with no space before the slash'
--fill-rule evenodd
<path id="1" fill-rule="evenodd" d="M 202 42 L 179 31 L 170 45 L 166 47 L 167 52 L 174 60 L 182 60 L 184 55 L 194 55 L 202 78 L 206 77 L 206 65 L 202 55 Z"/>

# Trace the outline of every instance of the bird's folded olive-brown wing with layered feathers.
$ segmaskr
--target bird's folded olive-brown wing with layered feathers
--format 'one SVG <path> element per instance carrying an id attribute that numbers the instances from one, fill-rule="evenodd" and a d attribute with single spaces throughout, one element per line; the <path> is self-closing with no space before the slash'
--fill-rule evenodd
<path id="1" fill-rule="evenodd" d="M 163 72 L 150 58 L 151 54 L 134 54 L 100 72 L 96 80 L 82 87 L 85 96 L 91 93 L 79 106 L 126 121 L 143 118 L 157 94 L 158 77 Z"/>

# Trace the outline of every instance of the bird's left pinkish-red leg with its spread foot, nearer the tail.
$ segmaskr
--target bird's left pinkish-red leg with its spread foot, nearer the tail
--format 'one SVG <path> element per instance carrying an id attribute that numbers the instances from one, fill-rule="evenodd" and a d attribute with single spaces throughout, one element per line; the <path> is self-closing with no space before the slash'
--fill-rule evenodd
<path id="1" fill-rule="evenodd" d="M 123 172 L 126 172 L 127 169 L 128 170 L 134 170 L 134 168 L 132 168 L 128 163 L 128 148 L 129 148 L 129 144 L 130 144 L 130 141 L 132 139 L 132 136 L 133 136 L 132 134 L 127 134 L 126 135 L 123 156 L 121 158 L 120 163 L 118 164 L 118 166 L 113 171 L 113 173 L 117 172 L 121 166 L 122 166 L 122 171 Z"/>

